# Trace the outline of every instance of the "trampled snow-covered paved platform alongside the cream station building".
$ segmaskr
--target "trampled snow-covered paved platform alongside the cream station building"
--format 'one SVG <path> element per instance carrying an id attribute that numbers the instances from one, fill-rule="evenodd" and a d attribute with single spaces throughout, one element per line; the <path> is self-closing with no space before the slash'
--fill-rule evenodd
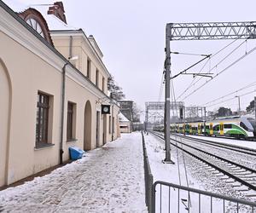
<path id="1" fill-rule="evenodd" d="M 0 212 L 147 212 L 140 133 L 0 192 Z"/>

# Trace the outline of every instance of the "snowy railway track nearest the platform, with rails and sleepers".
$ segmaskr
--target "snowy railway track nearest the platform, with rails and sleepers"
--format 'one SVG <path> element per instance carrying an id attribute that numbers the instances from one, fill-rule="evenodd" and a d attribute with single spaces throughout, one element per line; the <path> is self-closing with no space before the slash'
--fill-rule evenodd
<path id="1" fill-rule="evenodd" d="M 164 140 L 163 135 L 155 132 L 151 133 Z M 233 187 L 238 187 L 237 191 L 246 193 L 247 197 L 256 197 L 256 170 L 232 162 L 229 159 L 221 158 L 201 148 L 190 146 L 182 141 L 177 141 L 173 138 L 172 141 L 176 142 L 171 142 L 172 146 L 182 149 L 184 153 L 188 153 L 200 160 L 202 165 L 204 164 L 207 167 L 211 167 L 212 174 L 224 179 Z"/>

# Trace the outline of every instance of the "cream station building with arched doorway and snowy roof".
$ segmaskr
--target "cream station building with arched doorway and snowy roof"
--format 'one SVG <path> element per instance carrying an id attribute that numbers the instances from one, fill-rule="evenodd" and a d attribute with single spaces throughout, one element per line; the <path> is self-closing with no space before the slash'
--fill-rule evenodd
<path id="1" fill-rule="evenodd" d="M 102 57 L 61 2 L 17 11 L 0 0 L 0 187 L 119 136 Z"/>

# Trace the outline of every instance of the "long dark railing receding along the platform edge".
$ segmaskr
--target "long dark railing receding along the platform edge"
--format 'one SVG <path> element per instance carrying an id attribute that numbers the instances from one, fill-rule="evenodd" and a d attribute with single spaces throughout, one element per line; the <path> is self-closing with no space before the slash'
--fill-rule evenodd
<path id="1" fill-rule="evenodd" d="M 143 131 L 142 131 L 143 135 Z M 148 162 L 148 154 L 145 146 L 145 140 L 143 135 L 143 159 L 144 159 L 144 176 L 145 176 L 145 203 L 148 206 L 148 212 L 152 212 L 152 187 L 153 187 L 153 175 L 151 173 L 150 165 Z"/>

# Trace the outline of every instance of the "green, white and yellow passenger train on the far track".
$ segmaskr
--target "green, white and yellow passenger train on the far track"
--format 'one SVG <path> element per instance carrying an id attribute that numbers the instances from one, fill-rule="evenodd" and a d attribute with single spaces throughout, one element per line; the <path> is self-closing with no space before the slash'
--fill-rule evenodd
<path id="1" fill-rule="evenodd" d="M 237 139 L 255 138 L 255 119 L 250 116 L 233 116 L 215 118 L 207 121 L 195 121 L 171 124 L 171 132 L 186 135 L 229 136 Z M 157 126 L 154 130 L 163 131 L 164 127 Z"/>

